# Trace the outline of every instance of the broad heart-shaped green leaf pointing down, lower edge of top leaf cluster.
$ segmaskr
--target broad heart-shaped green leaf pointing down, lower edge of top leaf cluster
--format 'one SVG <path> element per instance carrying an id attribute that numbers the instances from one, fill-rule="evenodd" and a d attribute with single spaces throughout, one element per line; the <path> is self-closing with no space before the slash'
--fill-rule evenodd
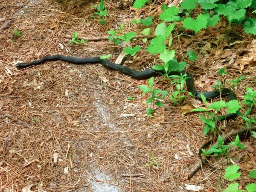
<path id="1" fill-rule="evenodd" d="M 184 19 L 183 25 L 186 29 L 192 29 L 197 34 L 199 30 L 207 28 L 207 17 L 205 15 L 198 15 L 196 20 L 188 17 Z"/>

